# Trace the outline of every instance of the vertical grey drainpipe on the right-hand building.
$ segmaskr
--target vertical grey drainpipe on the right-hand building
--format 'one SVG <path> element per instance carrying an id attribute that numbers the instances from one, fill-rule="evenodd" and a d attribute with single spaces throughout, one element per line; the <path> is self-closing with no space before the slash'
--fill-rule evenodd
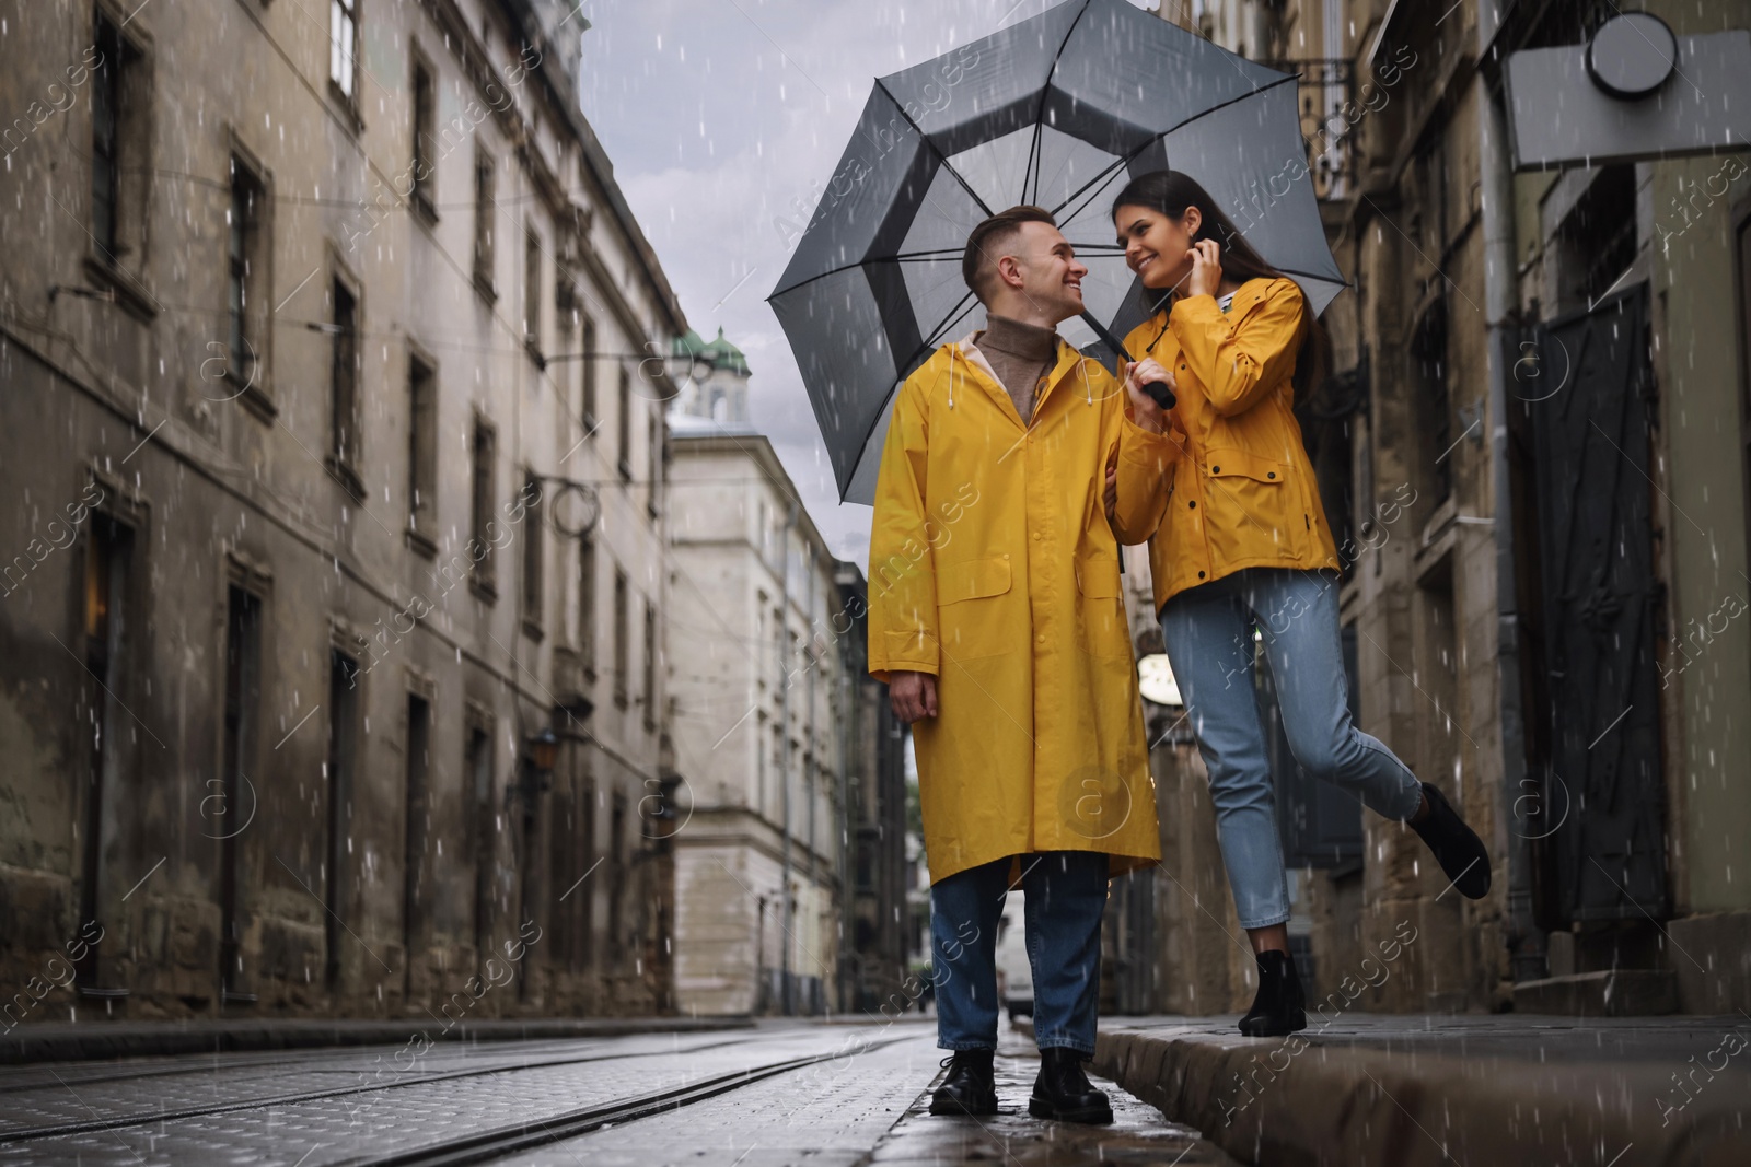
<path id="1" fill-rule="evenodd" d="M 1478 177 L 1483 187 L 1483 310 L 1490 359 L 1490 492 L 1495 497 L 1495 668 L 1502 728 L 1502 801 L 1497 838 L 1508 842 L 1508 952 L 1515 982 L 1546 975 L 1544 933 L 1532 919 L 1532 845 L 1513 828 L 1525 780 L 1525 717 L 1520 700 L 1520 612 L 1515 523 L 1508 476 L 1509 353 L 1516 352 L 1513 161 L 1508 154 L 1506 89 L 1490 87 L 1487 54 L 1502 23 L 1502 0 L 1478 5 Z M 1497 80 L 1501 73 L 1497 70 Z"/>

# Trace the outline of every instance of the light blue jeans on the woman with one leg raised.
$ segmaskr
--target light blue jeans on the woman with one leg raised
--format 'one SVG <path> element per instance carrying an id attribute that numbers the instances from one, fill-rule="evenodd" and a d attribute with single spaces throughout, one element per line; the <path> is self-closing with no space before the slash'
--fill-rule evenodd
<path id="1" fill-rule="evenodd" d="M 1271 766 L 1252 691 L 1254 628 L 1296 761 L 1389 819 L 1410 819 L 1422 801 L 1417 775 L 1350 721 L 1334 572 L 1248 567 L 1168 600 L 1161 635 L 1210 772 L 1222 864 L 1248 929 L 1289 919 Z"/>

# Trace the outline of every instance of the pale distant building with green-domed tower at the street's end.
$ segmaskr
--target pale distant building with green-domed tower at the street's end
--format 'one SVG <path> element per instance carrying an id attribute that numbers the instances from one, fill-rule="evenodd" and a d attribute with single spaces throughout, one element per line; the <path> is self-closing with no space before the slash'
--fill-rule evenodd
<path id="1" fill-rule="evenodd" d="M 861 572 L 828 553 L 746 415 L 693 401 L 671 416 L 676 1004 L 856 1008 L 858 969 L 886 952 L 856 922 L 888 894 L 865 828 L 893 814 L 884 695 L 854 668 Z"/>

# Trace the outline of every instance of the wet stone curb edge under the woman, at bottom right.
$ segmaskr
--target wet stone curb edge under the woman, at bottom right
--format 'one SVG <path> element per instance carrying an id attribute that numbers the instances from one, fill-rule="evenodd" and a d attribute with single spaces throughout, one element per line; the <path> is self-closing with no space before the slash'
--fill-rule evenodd
<path id="1" fill-rule="evenodd" d="M 1313 1032 L 1313 1031 L 1308 1031 Z M 1271 1167 L 1744 1167 L 1740 1087 L 1662 1123 L 1663 1062 L 1387 1053 L 1294 1038 L 1103 1032 L 1093 1069 Z M 1297 1050 L 1292 1045 L 1304 1038 Z M 1282 1067 L 1282 1069 L 1278 1069 Z"/>

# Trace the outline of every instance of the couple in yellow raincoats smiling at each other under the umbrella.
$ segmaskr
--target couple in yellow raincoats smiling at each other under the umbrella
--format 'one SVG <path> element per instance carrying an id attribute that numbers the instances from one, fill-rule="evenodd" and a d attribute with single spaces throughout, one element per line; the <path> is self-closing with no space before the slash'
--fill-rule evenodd
<path id="1" fill-rule="evenodd" d="M 1462 894 L 1490 885 L 1481 840 L 1350 721 L 1327 586 L 1338 553 L 1292 413 L 1324 357 L 1301 289 L 1182 173 L 1133 178 L 1112 217 L 1156 308 L 1126 338 L 1136 360 L 1124 381 L 1058 338 L 1082 313 L 1087 268 L 1047 212 L 1014 206 L 974 229 L 961 261 L 986 329 L 907 378 L 883 450 L 870 672 L 918 752 L 937 1032 L 953 1052 L 935 1115 L 996 1113 L 996 924 L 1021 887 L 1040 1046 L 1028 1111 L 1112 1122 L 1082 1073 L 1107 880 L 1161 857 L 1121 542 L 1150 544 L 1156 611 L 1259 966 L 1243 1034 L 1306 1027 L 1255 632 L 1296 759 L 1408 822 Z M 1171 409 L 1145 392 L 1156 381 Z M 1290 605 L 1296 619 L 1269 619 Z"/>

